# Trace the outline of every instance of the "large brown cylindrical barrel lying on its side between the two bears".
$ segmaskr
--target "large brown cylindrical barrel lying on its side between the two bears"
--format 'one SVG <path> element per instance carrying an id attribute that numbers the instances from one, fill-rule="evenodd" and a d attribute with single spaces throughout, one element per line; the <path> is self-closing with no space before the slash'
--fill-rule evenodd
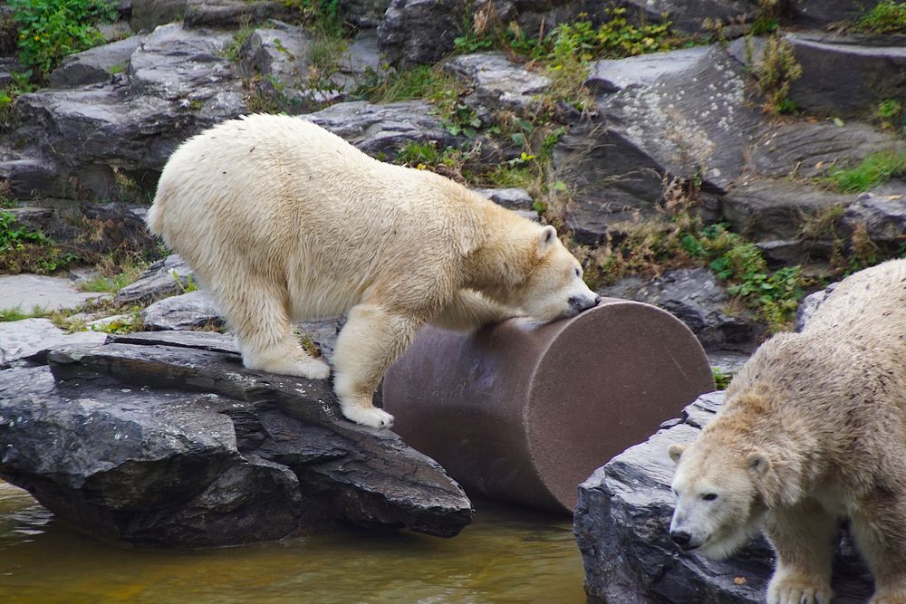
<path id="1" fill-rule="evenodd" d="M 686 325 L 650 304 L 605 298 L 546 324 L 426 328 L 387 371 L 383 401 L 394 432 L 468 494 L 573 511 L 595 468 L 713 389 Z"/>

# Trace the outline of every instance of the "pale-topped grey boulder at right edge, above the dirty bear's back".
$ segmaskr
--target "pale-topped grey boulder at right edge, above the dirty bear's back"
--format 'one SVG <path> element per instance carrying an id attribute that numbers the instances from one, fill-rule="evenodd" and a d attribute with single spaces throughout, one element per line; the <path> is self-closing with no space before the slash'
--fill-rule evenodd
<path id="1" fill-rule="evenodd" d="M 864 225 L 872 243 L 885 254 L 906 250 L 906 182 L 892 181 L 863 193 L 846 208 L 840 223 L 843 235 L 850 239 Z"/>

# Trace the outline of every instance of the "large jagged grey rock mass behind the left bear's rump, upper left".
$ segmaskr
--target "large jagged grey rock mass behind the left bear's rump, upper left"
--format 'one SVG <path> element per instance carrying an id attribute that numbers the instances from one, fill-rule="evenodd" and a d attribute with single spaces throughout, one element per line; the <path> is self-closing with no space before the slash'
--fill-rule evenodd
<path id="1" fill-rule="evenodd" d="M 162 25 L 112 83 L 20 96 L 14 137 L 83 193 L 120 199 L 123 170 L 139 179 L 156 173 L 188 136 L 246 110 L 241 82 L 221 56 L 231 41 Z"/>

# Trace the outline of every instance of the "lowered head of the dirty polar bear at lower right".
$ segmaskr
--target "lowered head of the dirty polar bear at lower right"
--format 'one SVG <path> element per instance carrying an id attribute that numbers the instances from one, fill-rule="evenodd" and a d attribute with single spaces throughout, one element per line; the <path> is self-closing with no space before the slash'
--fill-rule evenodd
<path id="1" fill-rule="evenodd" d="M 691 446 L 673 444 L 668 453 L 677 463 L 670 539 L 683 551 L 726 558 L 758 532 L 773 472 L 769 459 L 711 437 L 707 428 Z"/>

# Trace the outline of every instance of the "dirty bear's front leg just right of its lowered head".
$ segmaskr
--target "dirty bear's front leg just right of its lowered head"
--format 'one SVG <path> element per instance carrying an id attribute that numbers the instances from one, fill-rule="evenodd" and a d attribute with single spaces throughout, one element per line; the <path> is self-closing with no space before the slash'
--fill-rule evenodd
<path id="1" fill-rule="evenodd" d="M 819 503 L 806 500 L 773 510 L 765 528 L 777 554 L 767 603 L 830 604 L 836 518 Z"/>

